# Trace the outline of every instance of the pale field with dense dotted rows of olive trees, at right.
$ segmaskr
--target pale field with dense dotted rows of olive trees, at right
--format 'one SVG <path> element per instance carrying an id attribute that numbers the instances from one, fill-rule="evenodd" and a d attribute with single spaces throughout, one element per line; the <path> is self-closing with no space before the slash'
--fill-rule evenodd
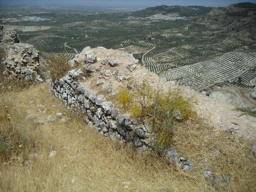
<path id="1" fill-rule="evenodd" d="M 229 52 L 211 60 L 192 65 L 168 69 L 164 76 L 168 80 L 178 79 L 182 84 L 197 89 L 214 85 L 219 82 L 237 82 L 250 85 L 250 79 L 255 78 L 256 52 Z M 248 76 L 250 75 L 250 76 Z"/>

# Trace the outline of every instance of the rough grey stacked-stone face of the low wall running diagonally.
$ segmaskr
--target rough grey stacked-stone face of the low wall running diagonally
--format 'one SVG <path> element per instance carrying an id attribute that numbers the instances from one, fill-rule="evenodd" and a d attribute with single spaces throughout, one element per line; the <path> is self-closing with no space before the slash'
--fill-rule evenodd
<path id="1" fill-rule="evenodd" d="M 141 151 L 155 151 L 156 140 L 147 125 L 140 125 L 136 120 L 120 114 L 110 101 L 97 92 L 91 93 L 76 81 L 83 75 L 81 69 L 74 69 L 68 75 L 51 82 L 55 96 L 63 100 L 68 108 L 79 110 L 89 126 L 94 127 L 102 135 L 117 139 L 122 143 L 132 142 Z M 163 148 L 160 152 L 168 160 L 177 163 L 183 170 L 193 167 L 191 161 L 179 157 L 174 148 Z"/>

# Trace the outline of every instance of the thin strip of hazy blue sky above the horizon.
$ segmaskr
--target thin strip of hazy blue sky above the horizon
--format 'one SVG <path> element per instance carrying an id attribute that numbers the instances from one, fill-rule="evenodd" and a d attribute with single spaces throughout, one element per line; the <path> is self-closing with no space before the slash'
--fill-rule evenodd
<path id="1" fill-rule="evenodd" d="M 251 2 L 256 0 L 0 0 L 0 4 L 17 5 L 94 5 L 108 7 L 152 7 L 156 5 L 202 5 L 202 6 L 227 6 L 229 4 Z"/>

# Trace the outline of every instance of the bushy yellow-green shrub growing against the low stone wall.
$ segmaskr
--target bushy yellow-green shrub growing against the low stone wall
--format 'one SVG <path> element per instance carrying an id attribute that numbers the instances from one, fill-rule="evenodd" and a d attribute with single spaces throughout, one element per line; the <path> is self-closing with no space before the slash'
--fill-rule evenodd
<path id="1" fill-rule="evenodd" d="M 176 124 L 194 115 L 190 104 L 192 98 L 184 97 L 179 88 L 154 89 L 147 80 L 142 83 L 133 81 L 133 85 L 132 89 L 120 87 L 117 101 L 131 112 L 132 118 L 150 126 L 161 146 L 171 146 Z"/>

